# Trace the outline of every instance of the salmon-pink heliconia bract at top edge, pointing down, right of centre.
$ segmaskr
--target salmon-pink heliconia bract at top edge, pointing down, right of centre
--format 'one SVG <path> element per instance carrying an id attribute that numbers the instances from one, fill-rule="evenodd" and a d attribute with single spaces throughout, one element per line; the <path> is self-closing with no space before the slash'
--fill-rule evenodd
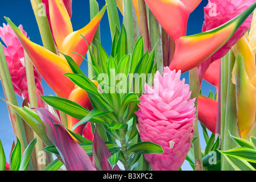
<path id="1" fill-rule="evenodd" d="M 145 0 L 155 18 L 172 39 L 187 33 L 188 16 L 201 0 Z"/>

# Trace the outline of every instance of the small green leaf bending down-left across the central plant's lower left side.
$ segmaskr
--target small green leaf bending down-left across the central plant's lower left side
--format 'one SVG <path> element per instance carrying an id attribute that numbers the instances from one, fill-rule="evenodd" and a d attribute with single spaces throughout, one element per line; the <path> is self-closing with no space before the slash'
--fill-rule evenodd
<path id="1" fill-rule="evenodd" d="M 73 125 L 73 130 L 75 130 L 77 126 L 83 125 L 84 123 L 86 123 L 88 121 L 105 125 L 106 122 L 103 119 L 101 119 L 100 116 L 108 114 L 108 113 L 110 113 L 110 112 L 104 112 L 104 111 L 101 111 L 98 109 L 93 109 L 84 118 L 82 118 L 79 122 L 77 122 L 75 125 Z M 96 117 L 98 118 L 97 122 L 91 120 L 92 118 L 96 118 Z"/>

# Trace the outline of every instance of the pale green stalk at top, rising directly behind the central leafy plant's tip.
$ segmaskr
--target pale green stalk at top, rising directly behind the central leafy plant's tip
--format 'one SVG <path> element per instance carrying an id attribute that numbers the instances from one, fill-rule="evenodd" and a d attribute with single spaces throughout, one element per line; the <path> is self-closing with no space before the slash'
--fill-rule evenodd
<path id="1" fill-rule="evenodd" d="M 130 0 L 123 0 L 123 24 L 127 32 L 127 51 L 131 54 L 141 34 L 134 5 Z"/>

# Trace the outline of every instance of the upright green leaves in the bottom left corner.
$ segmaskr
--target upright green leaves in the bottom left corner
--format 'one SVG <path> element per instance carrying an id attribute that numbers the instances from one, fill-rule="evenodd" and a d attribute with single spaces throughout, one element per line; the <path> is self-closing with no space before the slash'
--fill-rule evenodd
<path id="1" fill-rule="evenodd" d="M 32 140 L 30 144 L 28 144 L 22 154 L 20 141 L 17 137 L 16 145 L 14 146 L 10 155 L 10 171 L 27 171 L 30 163 L 32 150 L 34 149 L 35 144 L 36 138 Z M 6 156 L 5 151 L 3 150 L 2 142 L 0 140 L 0 171 L 5 171 L 5 165 Z"/>

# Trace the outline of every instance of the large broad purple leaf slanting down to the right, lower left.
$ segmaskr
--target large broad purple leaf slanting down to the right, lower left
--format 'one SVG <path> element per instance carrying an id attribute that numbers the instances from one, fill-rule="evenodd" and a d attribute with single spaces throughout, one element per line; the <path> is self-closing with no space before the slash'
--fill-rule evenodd
<path id="1" fill-rule="evenodd" d="M 38 108 L 39 117 L 44 122 L 49 139 L 55 145 L 64 165 L 68 171 L 95 171 L 89 156 L 84 149 L 76 143 L 69 135 L 68 131 L 61 126 L 58 121 L 47 109 Z"/>

